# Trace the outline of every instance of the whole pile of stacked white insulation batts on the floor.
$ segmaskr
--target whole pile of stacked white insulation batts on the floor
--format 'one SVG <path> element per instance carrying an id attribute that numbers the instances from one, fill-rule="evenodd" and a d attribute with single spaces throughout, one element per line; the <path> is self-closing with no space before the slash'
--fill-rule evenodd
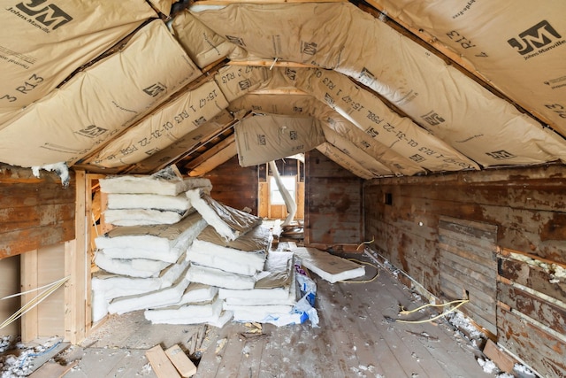
<path id="1" fill-rule="evenodd" d="M 304 321 L 293 253 L 270 252 L 262 219 L 212 199 L 210 181 L 175 172 L 101 180 L 106 218 L 119 211 L 113 223 L 132 225 L 96 238 L 102 271 L 92 280 L 93 319 L 145 310 L 147 320 L 166 324 Z M 180 220 L 164 224 L 161 212 Z"/>

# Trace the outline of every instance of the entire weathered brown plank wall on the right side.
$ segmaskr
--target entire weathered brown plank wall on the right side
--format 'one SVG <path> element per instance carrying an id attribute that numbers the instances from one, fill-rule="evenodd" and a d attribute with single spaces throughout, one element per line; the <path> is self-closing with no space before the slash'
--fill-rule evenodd
<path id="1" fill-rule="evenodd" d="M 469 291 L 464 312 L 501 346 L 566 376 L 564 188 L 557 165 L 367 181 L 365 238 L 435 296 Z"/>

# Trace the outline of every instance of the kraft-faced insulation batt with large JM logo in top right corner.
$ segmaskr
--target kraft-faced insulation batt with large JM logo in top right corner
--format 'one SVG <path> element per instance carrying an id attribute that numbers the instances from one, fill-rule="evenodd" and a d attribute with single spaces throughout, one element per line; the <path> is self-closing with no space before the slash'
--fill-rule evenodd
<path id="1" fill-rule="evenodd" d="M 445 0 L 369 0 L 369 4 L 432 35 L 469 62 L 490 86 L 540 114 L 566 136 L 566 101 L 560 89 L 566 87 L 564 2 L 539 6 L 528 0 L 478 1 L 462 7 Z"/>

